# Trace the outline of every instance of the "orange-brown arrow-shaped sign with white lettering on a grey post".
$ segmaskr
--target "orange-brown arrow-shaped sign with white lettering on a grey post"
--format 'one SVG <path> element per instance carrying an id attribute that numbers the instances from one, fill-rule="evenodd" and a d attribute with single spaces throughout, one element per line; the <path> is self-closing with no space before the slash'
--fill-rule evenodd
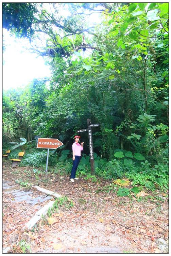
<path id="1" fill-rule="evenodd" d="M 49 149 L 56 149 L 62 145 L 64 145 L 64 144 L 58 139 L 38 138 L 37 148 L 47 148 L 48 149 L 47 159 L 46 159 L 46 174 L 48 171 Z"/>

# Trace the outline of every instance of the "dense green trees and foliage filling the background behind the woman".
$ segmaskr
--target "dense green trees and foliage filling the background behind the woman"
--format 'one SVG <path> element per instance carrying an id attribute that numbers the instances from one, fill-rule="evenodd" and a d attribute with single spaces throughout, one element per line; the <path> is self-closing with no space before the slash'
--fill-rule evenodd
<path id="1" fill-rule="evenodd" d="M 60 15 L 64 5 L 72 13 L 68 17 Z M 32 9 L 34 36 L 47 35 L 46 48 L 36 52 L 48 56 L 49 88 L 47 80 L 33 80 L 23 91 L 4 91 L 4 149 L 7 142 L 20 137 L 28 141 L 35 136 L 58 138 L 65 146 L 51 154 L 50 164 L 64 161 L 69 172 L 72 138 L 90 118 L 100 124 L 92 128 L 96 175 L 166 188 L 168 3 L 52 6 L 52 13 L 42 4 L 39 13 Z M 101 13 L 101 23 L 90 26 L 88 11 Z M 85 155 L 78 173 L 88 174 L 88 134 L 80 135 Z M 22 161 L 33 166 L 45 163 L 46 152 L 37 149 Z"/>

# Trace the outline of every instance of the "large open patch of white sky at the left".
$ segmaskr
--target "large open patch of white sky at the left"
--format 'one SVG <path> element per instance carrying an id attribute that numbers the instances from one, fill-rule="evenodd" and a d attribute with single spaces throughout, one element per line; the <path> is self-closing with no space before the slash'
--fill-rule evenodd
<path id="1" fill-rule="evenodd" d="M 3 29 L 5 51 L 3 53 L 3 89 L 25 87 L 34 78 L 50 77 L 50 67 L 37 54 L 30 53 L 28 39 L 10 37 L 10 32 Z"/>

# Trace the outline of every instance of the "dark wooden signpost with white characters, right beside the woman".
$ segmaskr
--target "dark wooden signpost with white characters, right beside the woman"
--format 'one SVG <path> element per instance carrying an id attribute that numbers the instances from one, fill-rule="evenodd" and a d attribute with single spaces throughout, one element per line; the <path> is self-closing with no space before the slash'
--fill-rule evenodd
<path id="1" fill-rule="evenodd" d="M 91 163 L 91 175 L 95 173 L 95 160 L 93 155 L 93 144 L 92 144 L 92 131 L 91 127 L 98 127 L 99 124 L 91 124 L 91 120 L 87 119 L 87 127 L 88 129 L 78 130 L 77 132 L 88 131 L 88 141 L 89 141 L 89 149 L 90 149 L 90 163 Z"/>

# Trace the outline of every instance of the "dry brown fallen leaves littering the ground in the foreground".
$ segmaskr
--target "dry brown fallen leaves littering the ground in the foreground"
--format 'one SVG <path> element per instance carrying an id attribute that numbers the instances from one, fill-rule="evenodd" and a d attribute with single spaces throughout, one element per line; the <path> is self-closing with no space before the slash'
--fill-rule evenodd
<path id="1" fill-rule="evenodd" d="M 11 169 L 7 168 L 5 165 L 5 177 L 4 179 L 12 180 L 19 179 L 21 177 L 24 180 L 25 173 L 23 170 L 30 170 L 30 167 L 19 167 L 19 173 L 11 175 Z M 120 240 L 123 241 L 123 247 L 126 244 L 131 242 L 131 246 L 134 252 L 142 253 L 157 253 L 158 249 L 155 247 L 154 237 L 164 237 L 166 240 L 168 239 L 168 231 L 164 230 L 168 226 L 168 218 L 167 216 L 167 203 L 161 203 L 161 206 L 164 208 L 163 213 L 156 210 L 155 219 L 160 227 L 154 222 L 154 216 L 151 215 L 152 210 L 156 207 L 154 202 L 150 200 L 148 202 L 137 202 L 136 200 L 130 200 L 128 197 L 119 198 L 116 196 L 116 192 L 107 193 L 105 191 L 101 191 L 100 193 L 96 193 L 96 189 L 102 187 L 104 185 L 108 185 L 109 182 L 102 180 L 101 183 L 92 183 L 87 182 L 84 179 L 80 179 L 76 181 L 74 184 L 69 182 L 69 177 L 63 176 L 62 179 L 60 177 L 55 177 L 53 175 L 48 176 L 48 182 L 44 183 L 42 179 L 45 178 L 44 175 L 39 179 L 38 184 L 44 188 L 55 191 L 58 194 L 66 195 L 70 199 L 73 200 L 74 207 L 70 209 L 62 208 L 61 211 L 52 215 L 51 218 L 48 219 L 48 224 L 39 221 L 39 229 L 36 232 L 21 232 L 21 227 L 26 222 L 25 216 L 28 216 L 28 220 L 35 213 L 36 209 L 32 209 L 32 207 L 26 207 L 25 203 L 14 203 L 9 202 L 12 197 L 9 195 L 4 195 L 4 229 L 3 229 L 3 238 L 4 245 L 7 247 L 11 243 L 10 234 L 17 233 L 18 236 L 15 238 L 16 241 L 19 241 L 23 236 L 27 241 L 33 241 L 34 245 L 32 246 L 32 250 L 34 252 L 43 251 L 47 248 L 52 248 L 54 250 L 62 249 L 65 251 L 65 244 L 60 237 L 60 232 L 66 230 L 66 232 L 70 232 L 70 229 L 74 229 L 77 226 L 86 227 L 87 223 L 91 223 L 91 230 L 87 230 L 89 237 L 87 239 L 91 239 L 91 241 L 97 239 L 93 231 L 93 225 L 99 223 L 99 225 L 104 226 L 103 232 L 104 236 L 110 237 L 112 234 L 116 234 L 120 237 Z M 56 182 L 55 182 L 56 181 Z M 34 175 L 30 177 L 30 182 L 34 184 L 35 179 Z M 35 185 L 35 184 L 34 184 Z M 140 192 L 139 196 L 146 196 L 146 193 Z M 163 194 L 165 196 L 165 194 Z M 79 203 L 79 200 L 82 199 L 85 203 Z M 8 208 L 5 208 L 5 203 Z M 10 210 L 9 210 L 10 209 Z M 27 213 L 26 213 L 27 210 Z M 117 221 L 112 219 L 115 217 Z M 28 221 L 27 220 L 27 221 Z M 143 234 L 138 234 L 130 229 L 121 227 L 118 225 L 123 224 L 126 227 L 130 227 L 135 231 L 139 231 Z M 57 233 L 58 237 L 56 240 L 51 241 L 51 235 L 53 233 Z M 99 231 L 99 236 L 101 235 Z M 151 236 L 148 237 L 147 235 Z M 29 240 L 30 239 L 30 240 Z M 87 239 L 83 239 L 78 244 L 77 251 L 81 251 L 81 246 L 87 246 Z M 98 242 L 97 242 L 98 243 Z M 96 244 L 97 245 L 97 244 Z M 136 246 L 135 246 L 136 245 Z M 100 246 L 100 243 L 99 243 Z M 70 250 L 73 250 L 73 246 L 69 247 Z"/>

